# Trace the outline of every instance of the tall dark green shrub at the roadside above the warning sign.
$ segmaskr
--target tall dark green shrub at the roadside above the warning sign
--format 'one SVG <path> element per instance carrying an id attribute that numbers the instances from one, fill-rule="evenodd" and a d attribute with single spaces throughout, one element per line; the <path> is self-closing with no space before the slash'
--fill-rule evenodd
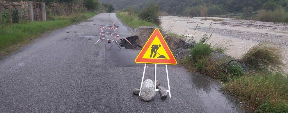
<path id="1" fill-rule="evenodd" d="M 141 20 L 153 22 L 157 25 L 161 24 L 159 18 L 159 5 L 153 3 L 152 1 L 147 4 L 145 10 L 139 13 Z"/>

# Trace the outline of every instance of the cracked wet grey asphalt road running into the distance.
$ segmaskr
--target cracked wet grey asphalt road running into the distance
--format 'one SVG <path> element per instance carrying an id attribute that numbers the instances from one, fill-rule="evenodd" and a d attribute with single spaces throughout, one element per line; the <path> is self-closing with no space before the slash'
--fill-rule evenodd
<path id="1" fill-rule="evenodd" d="M 171 97 L 143 102 L 132 95 L 139 88 L 144 64 L 136 64 L 136 51 L 119 49 L 99 37 L 99 24 L 119 25 L 114 13 L 101 13 L 81 22 L 44 34 L 35 42 L 0 61 L 0 111 L 6 112 L 245 112 L 220 85 L 205 75 L 168 65 Z M 67 33 L 69 32 L 69 33 Z M 167 86 L 164 65 L 157 79 Z M 145 79 L 154 79 L 154 65 Z"/>

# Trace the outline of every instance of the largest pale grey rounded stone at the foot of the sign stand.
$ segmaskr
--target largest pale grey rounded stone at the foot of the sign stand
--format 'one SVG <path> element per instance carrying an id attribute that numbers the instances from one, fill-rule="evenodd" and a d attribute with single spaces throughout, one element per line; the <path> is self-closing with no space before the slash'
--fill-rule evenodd
<path id="1" fill-rule="evenodd" d="M 156 92 L 155 92 L 153 80 L 146 79 L 143 82 L 140 98 L 143 101 L 151 101 L 154 99 L 155 95 L 156 95 Z"/>

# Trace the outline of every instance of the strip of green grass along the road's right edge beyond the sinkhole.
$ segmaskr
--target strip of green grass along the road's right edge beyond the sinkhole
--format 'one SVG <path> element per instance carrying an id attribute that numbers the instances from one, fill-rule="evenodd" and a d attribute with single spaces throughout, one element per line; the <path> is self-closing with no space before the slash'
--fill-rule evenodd
<path id="1" fill-rule="evenodd" d="M 133 13 L 129 14 L 128 12 L 117 11 L 116 15 L 122 22 L 124 22 L 126 25 L 134 29 L 139 26 L 156 26 L 162 29 L 162 27 L 160 27 L 159 25 L 155 23 L 141 20 L 140 18 L 138 18 L 137 14 L 133 14 Z"/>

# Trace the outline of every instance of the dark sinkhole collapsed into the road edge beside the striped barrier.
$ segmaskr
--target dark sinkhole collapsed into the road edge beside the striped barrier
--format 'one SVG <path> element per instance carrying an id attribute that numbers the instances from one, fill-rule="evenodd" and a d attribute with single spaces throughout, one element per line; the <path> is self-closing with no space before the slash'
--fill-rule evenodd
<path id="1" fill-rule="evenodd" d="M 142 48 L 140 45 L 138 45 L 137 43 L 137 39 L 138 39 L 138 36 L 135 35 L 135 36 L 130 36 L 130 37 L 126 37 L 126 39 L 135 47 L 135 49 L 139 49 L 139 48 Z M 125 47 L 126 49 L 134 49 L 130 44 L 129 42 L 127 42 L 127 40 L 125 39 L 122 39 L 121 40 L 121 43 L 120 45 Z"/>

